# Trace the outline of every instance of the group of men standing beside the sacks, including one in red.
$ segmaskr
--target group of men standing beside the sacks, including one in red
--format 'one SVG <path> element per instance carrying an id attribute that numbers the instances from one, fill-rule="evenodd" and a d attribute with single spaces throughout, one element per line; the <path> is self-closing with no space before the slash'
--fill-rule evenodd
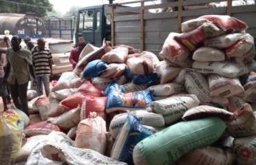
<path id="1" fill-rule="evenodd" d="M 45 40 L 40 38 L 35 46 L 30 37 L 25 37 L 23 41 L 26 46 L 21 47 L 21 37 L 12 36 L 11 45 L 6 50 L 7 65 L 2 78 L 0 75 L 0 87 L 8 86 L 10 96 L 17 109 L 21 109 L 28 116 L 28 83 L 31 80 L 36 85 L 36 92 L 39 96 L 50 94 L 50 75 L 52 75 L 52 53 L 45 47 Z M 70 52 L 70 63 L 73 69 L 78 63 L 81 51 L 85 47 L 85 40 L 78 39 L 78 47 L 74 47 Z M 1 74 L 1 66 L 0 66 Z M 0 89 L 1 90 L 1 89 Z M 1 91 L 0 91 L 1 93 Z M 9 95 L 9 94 L 8 94 Z M 7 107 L 7 97 L 3 96 L 4 111 Z"/>

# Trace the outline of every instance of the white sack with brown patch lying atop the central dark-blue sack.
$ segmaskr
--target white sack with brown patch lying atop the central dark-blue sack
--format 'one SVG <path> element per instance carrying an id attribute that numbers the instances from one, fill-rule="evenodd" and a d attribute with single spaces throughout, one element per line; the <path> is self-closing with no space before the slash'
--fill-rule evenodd
<path id="1" fill-rule="evenodd" d="M 133 74 L 150 74 L 155 71 L 160 61 L 156 54 L 143 51 L 139 57 L 129 58 L 126 64 Z"/>

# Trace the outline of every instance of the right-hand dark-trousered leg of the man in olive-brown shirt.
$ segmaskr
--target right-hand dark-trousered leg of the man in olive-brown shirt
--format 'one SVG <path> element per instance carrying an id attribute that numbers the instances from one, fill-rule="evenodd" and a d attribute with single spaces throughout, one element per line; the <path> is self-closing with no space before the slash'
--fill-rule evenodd
<path id="1" fill-rule="evenodd" d="M 24 113 L 26 113 L 28 116 L 30 116 L 30 113 L 28 111 L 28 98 L 27 98 L 28 83 L 19 85 L 18 92 L 19 92 L 19 100 L 21 101 L 21 110 Z"/>

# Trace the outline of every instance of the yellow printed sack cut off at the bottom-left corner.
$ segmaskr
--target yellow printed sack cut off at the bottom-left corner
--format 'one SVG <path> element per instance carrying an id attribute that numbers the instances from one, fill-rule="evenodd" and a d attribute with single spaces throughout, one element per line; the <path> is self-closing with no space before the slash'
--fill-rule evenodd
<path id="1" fill-rule="evenodd" d="M 21 149 L 24 123 L 15 110 L 0 114 L 0 164 L 12 164 Z"/>

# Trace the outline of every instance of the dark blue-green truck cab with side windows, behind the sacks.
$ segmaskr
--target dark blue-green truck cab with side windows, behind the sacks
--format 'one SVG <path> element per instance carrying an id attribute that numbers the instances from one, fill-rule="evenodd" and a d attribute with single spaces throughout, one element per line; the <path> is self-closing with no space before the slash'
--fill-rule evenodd
<path id="1" fill-rule="evenodd" d="M 83 36 L 86 43 L 101 47 L 103 39 L 110 41 L 110 23 L 105 17 L 105 5 L 94 5 L 78 10 L 75 40 Z"/>

